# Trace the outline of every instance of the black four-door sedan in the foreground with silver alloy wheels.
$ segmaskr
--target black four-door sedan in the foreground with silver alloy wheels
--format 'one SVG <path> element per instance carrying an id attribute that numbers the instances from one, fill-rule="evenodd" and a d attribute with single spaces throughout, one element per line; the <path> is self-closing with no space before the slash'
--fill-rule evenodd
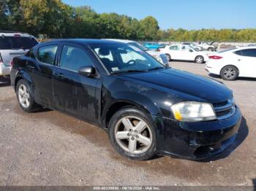
<path id="1" fill-rule="evenodd" d="M 130 159 L 217 155 L 233 143 L 241 122 L 225 85 L 162 66 L 129 44 L 55 40 L 12 63 L 24 111 L 43 106 L 98 125 Z"/>

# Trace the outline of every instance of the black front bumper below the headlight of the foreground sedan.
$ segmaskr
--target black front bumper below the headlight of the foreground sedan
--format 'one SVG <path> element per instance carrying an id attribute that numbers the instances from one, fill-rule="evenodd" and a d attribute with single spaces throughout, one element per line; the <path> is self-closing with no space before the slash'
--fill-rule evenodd
<path id="1" fill-rule="evenodd" d="M 202 160 L 224 151 L 236 139 L 241 112 L 209 122 L 178 122 L 165 117 L 157 119 L 157 152 L 192 160 Z"/>

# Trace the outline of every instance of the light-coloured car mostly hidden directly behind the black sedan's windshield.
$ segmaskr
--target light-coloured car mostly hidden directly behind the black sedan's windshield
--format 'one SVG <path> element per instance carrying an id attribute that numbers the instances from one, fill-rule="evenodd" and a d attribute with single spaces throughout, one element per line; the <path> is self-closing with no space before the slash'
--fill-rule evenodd
<path id="1" fill-rule="evenodd" d="M 153 56 L 154 58 L 157 59 L 157 61 L 159 61 L 160 63 L 162 63 L 164 66 L 167 66 L 169 64 L 167 55 L 162 54 L 160 52 L 156 52 L 153 50 L 148 50 L 148 48 L 143 47 L 141 44 L 139 44 L 138 42 L 135 41 L 131 41 L 131 40 L 124 40 L 124 39 L 108 39 L 108 40 L 112 40 L 112 41 L 116 41 L 116 42 L 123 42 L 135 47 L 138 47 L 140 50 L 146 51 L 149 55 Z"/>

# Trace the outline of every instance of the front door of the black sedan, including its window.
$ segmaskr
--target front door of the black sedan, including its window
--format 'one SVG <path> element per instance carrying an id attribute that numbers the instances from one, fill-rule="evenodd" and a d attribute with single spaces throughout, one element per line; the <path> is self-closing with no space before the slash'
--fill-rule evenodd
<path id="1" fill-rule="evenodd" d="M 77 117 L 95 121 L 99 113 L 100 78 L 78 74 L 82 66 L 94 66 L 89 50 L 63 44 L 59 65 L 53 74 L 54 107 Z"/>

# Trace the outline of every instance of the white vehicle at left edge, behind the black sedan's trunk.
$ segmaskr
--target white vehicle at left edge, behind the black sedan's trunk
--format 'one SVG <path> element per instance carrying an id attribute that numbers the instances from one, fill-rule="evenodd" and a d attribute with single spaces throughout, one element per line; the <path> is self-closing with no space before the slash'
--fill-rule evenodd
<path id="1" fill-rule="evenodd" d="M 12 58 L 24 55 L 38 42 L 29 34 L 0 31 L 0 76 L 10 75 Z"/>

